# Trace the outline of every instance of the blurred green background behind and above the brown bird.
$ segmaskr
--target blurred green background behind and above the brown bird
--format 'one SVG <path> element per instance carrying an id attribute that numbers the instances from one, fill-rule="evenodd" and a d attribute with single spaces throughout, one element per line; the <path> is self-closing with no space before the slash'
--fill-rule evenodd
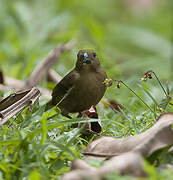
<path id="1" fill-rule="evenodd" d="M 64 76 L 79 49 L 95 49 L 109 77 L 173 77 L 171 0 L 0 0 L 0 68 L 26 80 L 55 46 L 77 43 L 53 68 Z"/>

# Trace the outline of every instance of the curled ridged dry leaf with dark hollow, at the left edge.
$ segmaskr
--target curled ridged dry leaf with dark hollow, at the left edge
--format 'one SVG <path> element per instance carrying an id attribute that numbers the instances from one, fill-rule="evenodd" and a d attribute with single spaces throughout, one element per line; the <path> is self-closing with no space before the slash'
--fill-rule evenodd
<path id="1" fill-rule="evenodd" d="M 11 94 L 3 99 L 0 102 L 0 125 L 3 125 L 25 107 L 32 105 L 39 96 L 40 91 L 34 87 L 24 92 Z"/>

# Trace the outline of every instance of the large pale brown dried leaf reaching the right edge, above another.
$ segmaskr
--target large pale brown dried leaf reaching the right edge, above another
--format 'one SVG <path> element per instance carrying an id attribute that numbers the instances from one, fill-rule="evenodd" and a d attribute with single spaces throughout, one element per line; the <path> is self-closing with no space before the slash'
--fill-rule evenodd
<path id="1" fill-rule="evenodd" d="M 145 132 L 115 139 L 113 137 L 101 137 L 87 147 L 87 153 L 121 155 L 129 151 L 138 151 L 141 155 L 147 156 L 157 149 L 173 144 L 173 113 L 163 114 L 156 124 Z"/>

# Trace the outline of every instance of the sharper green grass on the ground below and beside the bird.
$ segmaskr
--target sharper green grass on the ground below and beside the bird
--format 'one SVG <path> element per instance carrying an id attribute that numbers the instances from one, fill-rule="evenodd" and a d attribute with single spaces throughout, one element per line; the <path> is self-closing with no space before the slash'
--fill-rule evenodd
<path id="1" fill-rule="evenodd" d="M 152 87 L 151 84 L 145 83 L 145 89 L 141 87 L 136 87 L 134 96 L 129 98 L 129 105 L 123 104 L 124 109 L 120 112 L 116 113 L 109 107 L 99 109 L 99 116 L 103 124 L 101 136 L 110 135 L 121 138 L 138 134 L 155 123 L 156 115 L 159 116 L 163 111 L 173 110 L 173 106 L 168 103 L 165 109 L 156 108 L 155 102 L 159 101 L 156 100 L 157 97 L 151 94 L 155 86 Z M 141 89 L 142 92 L 140 92 Z M 159 90 L 162 94 L 161 89 Z M 129 94 L 130 92 L 134 92 L 134 90 L 130 88 Z M 135 96 L 137 93 L 140 94 L 140 98 L 138 95 Z M 165 97 L 165 94 L 162 96 Z M 152 101 L 150 102 L 149 99 Z M 150 102 L 150 108 L 145 106 L 143 101 Z M 92 138 L 84 139 L 81 137 L 82 128 L 72 128 L 71 126 L 76 122 L 88 122 L 94 121 L 94 119 L 76 119 L 73 116 L 74 118 L 69 120 L 57 113 L 56 109 L 49 112 L 43 112 L 43 109 L 44 106 L 39 106 L 36 103 L 32 111 L 25 109 L 24 112 L 15 118 L 11 118 L 0 128 L 0 170 L 2 178 L 58 179 L 62 173 L 69 171 L 71 160 L 82 157 L 81 147 L 85 149 L 91 140 L 98 137 L 98 135 L 93 135 Z M 150 172 L 149 167 L 152 168 L 152 172 Z M 148 168 L 151 177 L 157 174 L 157 170 L 153 169 L 151 165 L 146 165 L 146 168 Z M 169 171 L 162 170 L 162 172 L 164 177 L 169 177 Z M 163 175 L 157 174 L 158 176 Z M 132 177 L 120 177 L 118 175 L 110 175 L 108 179 L 115 177 L 132 179 Z"/>

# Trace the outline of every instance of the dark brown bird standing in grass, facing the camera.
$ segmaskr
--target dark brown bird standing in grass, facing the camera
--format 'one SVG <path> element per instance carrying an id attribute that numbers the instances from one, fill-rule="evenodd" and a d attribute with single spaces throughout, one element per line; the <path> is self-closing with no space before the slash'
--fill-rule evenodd
<path id="1" fill-rule="evenodd" d="M 106 91 L 107 78 L 93 50 L 80 50 L 75 68 L 53 89 L 52 100 L 45 110 L 57 105 L 63 116 L 88 110 L 97 105 Z"/>

